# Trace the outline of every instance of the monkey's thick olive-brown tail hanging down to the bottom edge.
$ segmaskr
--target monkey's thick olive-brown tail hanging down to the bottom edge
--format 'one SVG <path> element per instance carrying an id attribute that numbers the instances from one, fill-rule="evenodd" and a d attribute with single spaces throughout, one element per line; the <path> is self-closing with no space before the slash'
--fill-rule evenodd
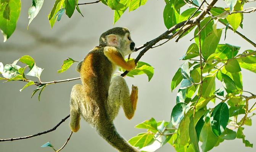
<path id="1" fill-rule="evenodd" d="M 130 145 L 126 139 L 116 131 L 113 122 L 105 121 L 97 127 L 97 131 L 109 144 L 118 149 L 119 152 L 139 152 L 138 149 Z"/>

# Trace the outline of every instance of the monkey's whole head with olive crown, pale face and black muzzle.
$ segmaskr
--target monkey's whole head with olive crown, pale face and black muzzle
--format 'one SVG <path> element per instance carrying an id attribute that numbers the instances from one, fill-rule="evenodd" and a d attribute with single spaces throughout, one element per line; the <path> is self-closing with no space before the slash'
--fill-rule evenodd
<path id="1" fill-rule="evenodd" d="M 100 36 L 100 46 L 113 46 L 118 48 L 122 55 L 134 52 L 135 43 L 130 37 L 130 32 L 126 27 L 114 27 Z"/>

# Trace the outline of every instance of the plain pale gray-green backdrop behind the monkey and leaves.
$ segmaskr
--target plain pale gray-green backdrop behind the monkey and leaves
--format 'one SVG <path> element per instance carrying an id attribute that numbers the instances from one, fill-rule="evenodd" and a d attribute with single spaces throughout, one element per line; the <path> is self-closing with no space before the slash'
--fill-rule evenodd
<path id="1" fill-rule="evenodd" d="M 80 2 L 89 2 L 80 0 Z M 42 81 L 61 80 L 79 76 L 75 71 L 75 65 L 68 71 L 58 74 L 57 70 L 64 59 L 71 57 L 82 60 L 84 56 L 98 44 L 99 35 L 116 26 L 128 27 L 131 30 L 132 39 L 137 46 L 156 38 L 166 31 L 163 22 L 163 0 L 149 0 L 145 6 L 133 11 L 126 12 L 113 26 L 113 11 L 105 5 L 81 6 L 84 18 L 77 12 L 71 19 L 63 16 L 60 22 L 56 22 L 50 29 L 47 15 L 52 9 L 53 1 L 44 2 L 43 8 L 27 28 L 27 9 L 31 6 L 31 0 L 22 0 L 21 15 L 18 26 L 11 38 L 3 43 L 0 38 L 0 62 L 12 63 L 23 55 L 31 55 L 39 67 L 45 68 L 42 73 Z M 223 2 L 221 2 L 223 5 Z M 251 6 L 255 6 L 252 3 Z M 248 5 L 245 8 L 249 7 Z M 238 28 L 243 34 L 254 42 L 256 24 L 255 13 L 246 14 L 243 20 L 244 29 Z M 2 36 L 1 36 L 2 37 Z M 123 111 L 119 112 L 114 121 L 117 130 L 126 139 L 137 135 L 145 130 L 134 128 L 144 120 L 154 117 L 156 120 L 170 120 L 171 110 L 175 105 L 177 89 L 171 92 L 170 83 L 177 68 L 183 63 L 178 60 L 192 43 L 189 41 L 192 34 L 182 38 L 179 43 L 171 40 L 161 47 L 150 49 L 142 61 L 150 63 L 155 68 L 155 74 L 150 82 L 145 75 L 127 78 L 128 86 L 135 84 L 139 88 L 139 100 L 134 119 L 127 120 Z M 47 41 L 45 41 L 47 40 Z M 71 42 L 71 43 L 70 43 Z M 241 50 L 254 49 L 249 43 L 234 34 L 227 33 L 227 40 L 221 38 L 222 43 L 230 43 L 242 46 Z M 138 53 L 132 55 L 136 57 Z M 243 84 L 245 90 L 256 93 L 255 74 L 243 70 Z M 19 92 L 24 82 L 0 83 L 0 138 L 11 138 L 31 135 L 55 126 L 61 119 L 69 114 L 69 94 L 74 84 L 80 80 L 64 82 L 47 86 L 41 95 L 41 101 L 37 97 L 31 99 L 31 93 L 35 89 L 31 86 L 23 92 Z M 45 142 L 51 141 L 59 148 L 63 145 L 69 135 L 69 119 L 57 130 L 46 135 L 35 138 L 0 142 L 0 152 L 50 152 L 50 148 L 40 148 Z M 255 138 L 256 118 L 253 118 L 253 127 L 245 128 L 246 139 L 256 144 Z M 225 141 L 215 147 L 212 152 L 220 151 L 246 151 L 253 152 L 256 148 L 247 148 L 242 139 Z M 86 122 L 81 121 L 81 129 L 74 133 L 63 152 L 113 152 L 114 150 L 107 142 L 97 135 L 95 129 Z M 174 151 L 166 144 L 157 152 Z"/>

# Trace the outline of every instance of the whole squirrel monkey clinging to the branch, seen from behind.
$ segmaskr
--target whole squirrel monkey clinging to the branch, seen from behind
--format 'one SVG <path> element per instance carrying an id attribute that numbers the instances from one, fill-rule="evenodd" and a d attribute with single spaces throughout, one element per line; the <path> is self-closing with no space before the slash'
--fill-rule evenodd
<path id="1" fill-rule="evenodd" d="M 71 130 L 79 130 L 81 115 L 97 129 L 100 136 L 120 152 L 138 152 L 119 135 L 113 124 L 120 106 L 126 117 L 132 119 L 138 100 L 138 88 L 132 86 L 129 94 L 124 78 L 112 76 L 117 66 L 128 71 L 135 68 L 134 60 L 124 60 L 124 56 L 131 54 L 134 47 L 135 43 L 127 28 L 115 27 L 101 34 L 99 46 L 77 65 L 82 85 L 75 85 L 71 91 Z"/>

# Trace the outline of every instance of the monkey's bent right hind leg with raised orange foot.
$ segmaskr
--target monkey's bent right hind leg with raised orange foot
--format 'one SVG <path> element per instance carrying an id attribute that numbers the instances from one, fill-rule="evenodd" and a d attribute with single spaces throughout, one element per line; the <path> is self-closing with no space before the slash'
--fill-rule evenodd
<path id="1" fill-rule="evenodd" d="M 108 92 L 109 116 L 113 120 L 118 114 L 119 107 L 122 105 L 124 113 L 128 119 L 132 119 L 138 100 L 138 88 L 133 86 L 132 93 L 126 81 L 121 76 L 112 78 Z"/>

